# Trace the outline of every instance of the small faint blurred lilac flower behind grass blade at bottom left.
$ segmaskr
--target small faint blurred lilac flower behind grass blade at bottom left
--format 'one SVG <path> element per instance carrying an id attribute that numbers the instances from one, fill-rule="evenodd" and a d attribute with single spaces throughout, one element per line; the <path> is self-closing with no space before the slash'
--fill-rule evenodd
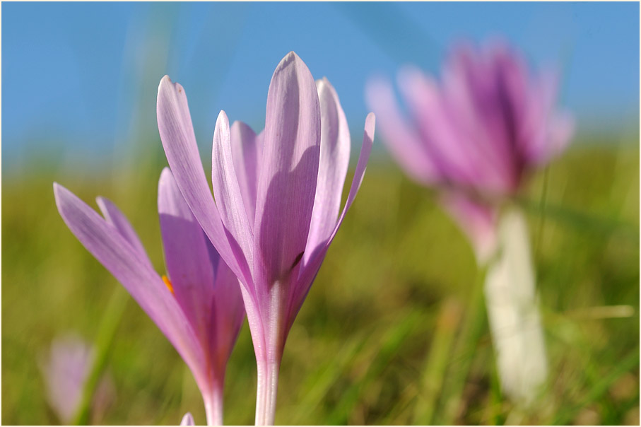
<path id="1" fill-rule="evenodd" d="M 93 346 L 76 334 L 69 334 L 55 338 L 49 354 L 40 361 L 47 401 L 62 424 L 73 423 L 78 415 L 94 358 Z M 91 399 L 94 420 L 100 419 L 114 392 L 111 378 L 103 375 Z"/>

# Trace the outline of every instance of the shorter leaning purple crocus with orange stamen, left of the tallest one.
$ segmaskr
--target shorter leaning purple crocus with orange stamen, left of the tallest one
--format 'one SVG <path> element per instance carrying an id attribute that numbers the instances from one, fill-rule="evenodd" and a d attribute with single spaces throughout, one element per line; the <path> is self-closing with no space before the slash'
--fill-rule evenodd
<path id="1" fill-rule="evenodd" d="M 207 423 L 221 424 L 225 367 L 245 312 L 235 276 L 195 221 L 170 170 L 158 183 L 168 278 L 156 273 L 112 202 L 98 197 L 102 218 L 61 185 L 54 183 L 54 194 L 71 232 L 127 288 L 192 370 Z"/>

